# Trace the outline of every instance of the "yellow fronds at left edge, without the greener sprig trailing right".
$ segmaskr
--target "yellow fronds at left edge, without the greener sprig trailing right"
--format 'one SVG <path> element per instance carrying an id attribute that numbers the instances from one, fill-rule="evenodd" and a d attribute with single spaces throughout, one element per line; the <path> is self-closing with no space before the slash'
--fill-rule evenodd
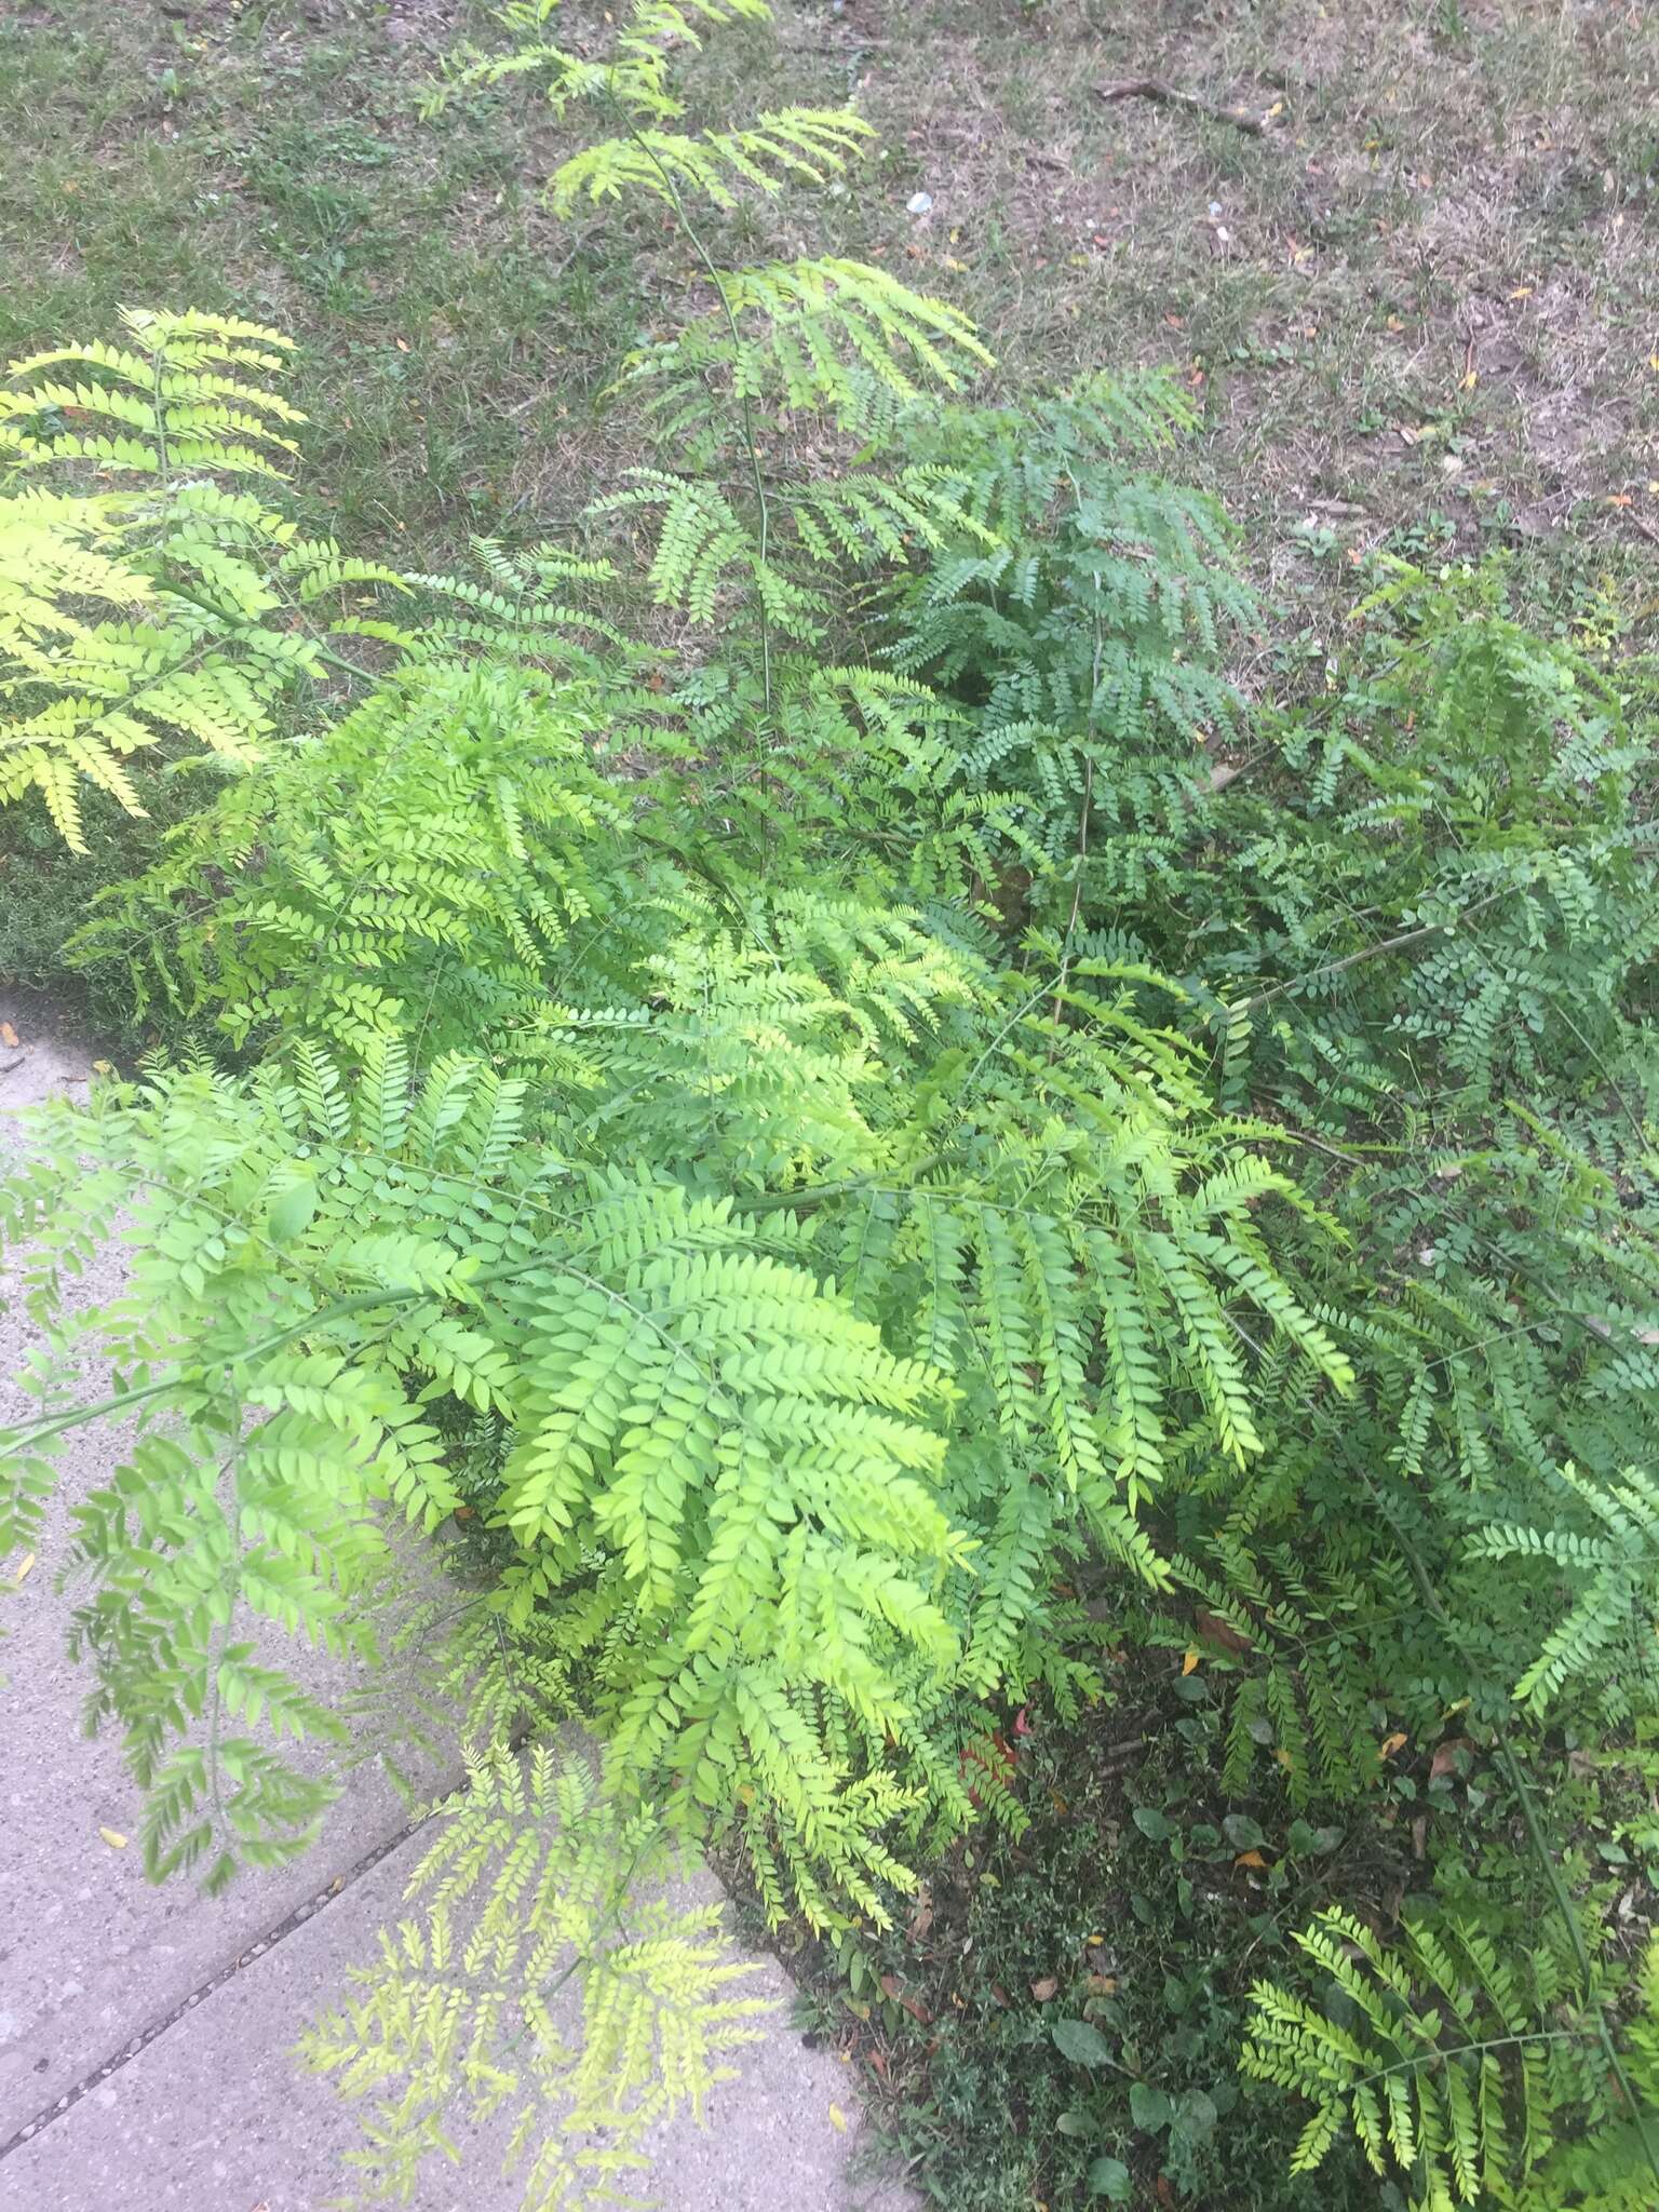
<path id="1" fill-rule="evenodd" d="M 0 799 L 40 790 L 77 849 L 82 781 L 142 812 L 135 752 L 186 739 L 246 763 L 319 668 L 272 615 L 274 577 L 301 591 L 321 549 L 228 489 L 292 451 L 294 409 L 246 374 L 281 374 L 288 341 L 204 314 L 126 323 L 128 345 L 15 361 L 0 392 Z"/>

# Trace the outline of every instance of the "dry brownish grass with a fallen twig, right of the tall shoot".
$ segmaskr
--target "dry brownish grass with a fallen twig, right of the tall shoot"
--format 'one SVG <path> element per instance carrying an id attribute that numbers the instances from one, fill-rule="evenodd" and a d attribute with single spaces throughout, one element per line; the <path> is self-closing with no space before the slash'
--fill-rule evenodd
<path id="1" fill-rule="evenodd" d="M 1540 575 L 1593 546 L 1652 619 L 1641 11 L 1006 0 L 936 4 L 920 31 L 869 4 L 834 22 L 889 128 L 856 195 L 867 250 L 975 314 L 1020 378 L 1175 365 L 1270 582 L 1310 582 L 1281 551 L 1310 511 L 1343 502 L 1363 551 L 1433 504 L 1458 553 L 1498 538 Z M 1095 97 L 1148 73 L 1267 133 Z M 914 190 L 933 206 L 905 219 Z"/>

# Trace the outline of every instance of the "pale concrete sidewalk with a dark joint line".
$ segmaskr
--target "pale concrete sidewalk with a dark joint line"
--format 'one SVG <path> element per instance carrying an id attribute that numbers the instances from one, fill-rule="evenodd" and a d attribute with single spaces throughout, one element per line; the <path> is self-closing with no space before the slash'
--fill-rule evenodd
<path id="1" fill-rule="evenodd" d="M 0 1020 L 20 1040 L 0 1042 L 0 1108 L 86 1079 L 86 1046 L 27 1000 L 0 995 Z M 0 1155 L 11 1141 L 0 1113 Z M 11 1391 L 27 1349 L 27 1316 L 0 1312 L 0 1422 L 27 1411 Z M 217 1900 L 144 1880 L 137 1845 L 111 1840 L 135 1832 L 137 1794 L 117 1745 L 80 1732 L 73 1597 L 53 1588 L 66 1513 L 119 1440 L 88 1429 L 69 1444 L 40 1564 L 0 1608 L 0 2212 L 321 2212 L 343 2194 L 356 2117 L 290 2051 L 396 1920 L 425 1840 L 363 1767 L 299 1867 L 241 1876 Z M 900 2212 L 907 2192 L 849 2179 L 852 2073 L 790 2031 L 774 1960 L 750 1993 L 779 2002 L 765 2039 L 737 2053 L 741 2079 L 712 2101 L 708 2130 L 666 2130 L 639 2194 L 664 2212 Z M 462 2166 L 434 2172 L 416 2212 L 518 2212 L 500 2141 L 458 2139 Z"/>

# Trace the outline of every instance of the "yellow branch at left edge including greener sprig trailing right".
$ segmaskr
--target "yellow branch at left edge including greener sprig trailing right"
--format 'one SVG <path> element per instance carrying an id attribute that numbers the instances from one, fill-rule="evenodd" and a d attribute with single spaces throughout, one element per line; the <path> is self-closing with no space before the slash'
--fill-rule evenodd
<path id="1" fill-rule="evenodd" d="M 482 580 L 405 577 L 303 538 L 281 504 L 301 416 L 270 389 L 292 341 L 195 312 L 124 319 L 126 345 L 15 361 L 0 389 L 0 803 L 40 792 L 82 852 L 84 783 L 142 814 L 133 759 L 199 745 L 248 768 L 301 697 L 367 681 L 338 650 L 352 637 L 571 664 L 575 633 L 606 633 L 562 602 L 604 562 L 480 544 Z M 365 586 L 409 617 L 365 613 Z"/>

